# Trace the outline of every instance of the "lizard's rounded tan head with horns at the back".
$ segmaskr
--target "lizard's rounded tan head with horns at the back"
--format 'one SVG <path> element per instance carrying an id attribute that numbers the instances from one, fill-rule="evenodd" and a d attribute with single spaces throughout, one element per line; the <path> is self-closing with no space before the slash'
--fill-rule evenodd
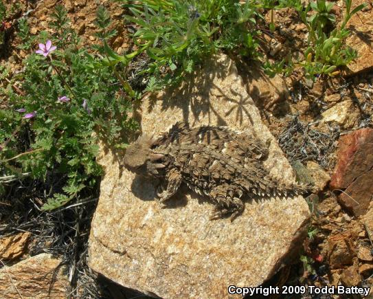
<path id="1" fill-rule="evenodd" d="M 137 175 L 157 176 L 158 169 L 166 166 L 159 162 L 164 155 L 152 151 L 154 142 L 151 137 L 140 136 L 126 148 L 124 166 Z"/>

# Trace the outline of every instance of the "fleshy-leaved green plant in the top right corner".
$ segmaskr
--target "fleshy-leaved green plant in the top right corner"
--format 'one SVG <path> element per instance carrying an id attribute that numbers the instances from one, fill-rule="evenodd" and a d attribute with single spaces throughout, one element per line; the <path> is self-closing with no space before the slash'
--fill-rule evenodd
<path id="1" fill-rule="evenodd" d="M 273 65 L 264 65 L 267 74 L 278 74 L 285 71 L 290 74 L 289 67 L 302 66 L 306 78 L 315 79 L 318 76 L 334 76 L 337 68 L 348 65 L 357 52 L 346 45 L 346 38 L 350 36 L 350 31 L 346 29 L 346 24 L 351 16 L 365 7 L 365 4 L 358 5 L 351 10 L 352 0 L 344 0 L 346 4 L 345 18 L 341 25 L 336 27 L 335 15 L 332 8 L 335 3 L 325 0 L 316 0 L 304 5 L 301 0 L 280 0 L 276 8 L 294 8 L 299 18 L 306 25 L 308 30 L 308 47 L 304 52 L 304 60 L 289 62 L 286 67 L 282 62 Z"/>

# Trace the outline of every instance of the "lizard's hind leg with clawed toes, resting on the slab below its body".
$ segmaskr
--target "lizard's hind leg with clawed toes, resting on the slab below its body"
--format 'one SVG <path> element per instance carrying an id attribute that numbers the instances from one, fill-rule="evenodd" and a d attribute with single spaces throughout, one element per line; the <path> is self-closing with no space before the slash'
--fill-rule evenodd
<path id="1" fill-rule="evenodd" d="M 242 201 L 236 197 L 239 194 L 234 186 L 223 184 L 217 186 L 210 192 L 210 198 L 215 203 L 214 212 L 210 219 L 219 219 L 226 214 L 231 214 L 231 221 L 233 221 L 245 209 Z"/>

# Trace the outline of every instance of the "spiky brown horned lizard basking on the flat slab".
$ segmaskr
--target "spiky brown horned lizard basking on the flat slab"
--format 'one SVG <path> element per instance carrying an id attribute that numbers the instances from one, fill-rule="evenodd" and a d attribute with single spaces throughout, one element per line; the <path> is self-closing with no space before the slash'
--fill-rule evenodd
<path id="1" fill-rule="evenodd" d="M 160 137 L 141 136 L 128 146 L 124 166 L 139 175 L 161 179 L 158 196 L 163 204 L 185 182 L 215 204 L 210 219 L 231 214 L 233 220 L 245 208 L 242 195 L 286 196 L 308 190 L 271 177 L 263 164 L 267 155 L 268 144 L 251 133 L 226 126 L 190 128 L 177 122 Z"/>

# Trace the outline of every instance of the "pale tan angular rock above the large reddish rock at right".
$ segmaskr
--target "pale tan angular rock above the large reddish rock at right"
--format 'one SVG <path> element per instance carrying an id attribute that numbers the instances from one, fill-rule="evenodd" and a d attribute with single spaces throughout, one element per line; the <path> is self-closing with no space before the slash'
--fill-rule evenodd
<path id="1" fill-rule="evenodd" d="M 353 113 L 354 103 L 352 100 L 345 100 L 335 104 L 330 109 L 321 113 L 323 122 L 335 122 L 344 129 L 350 129 L 354 126 L 359 115 Z"/>

